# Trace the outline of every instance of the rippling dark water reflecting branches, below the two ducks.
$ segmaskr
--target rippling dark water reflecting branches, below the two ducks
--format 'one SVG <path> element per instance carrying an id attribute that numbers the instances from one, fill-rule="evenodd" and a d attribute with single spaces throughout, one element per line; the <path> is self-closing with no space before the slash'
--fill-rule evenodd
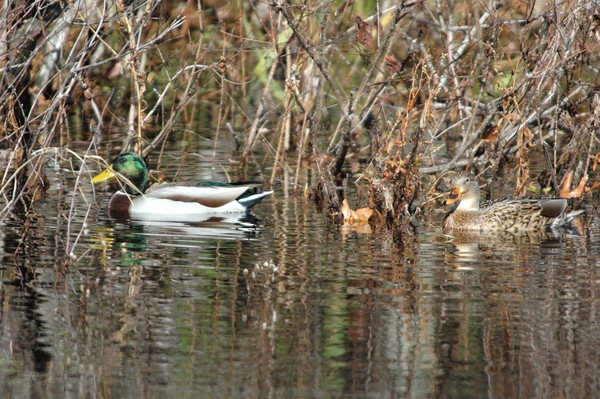
<path id="1" fill-rule="evenodd" d="M 2 398 L 600 392 L 592 209 L 581 235 L 447 241 L 441 213 L 359 233 L 279 189 L 252 217 L 124 223 L 108 192 L 59 175 L 34 217 L 0 226 Z"/>

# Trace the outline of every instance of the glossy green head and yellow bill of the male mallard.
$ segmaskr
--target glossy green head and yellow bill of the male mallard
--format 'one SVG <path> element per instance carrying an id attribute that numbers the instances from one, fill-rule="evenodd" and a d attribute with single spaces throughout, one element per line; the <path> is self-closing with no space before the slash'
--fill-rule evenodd
<path id="1" fill-rule="evenodd" d="M 148 166 L 137 154 L 126 152 L 117 155 L 110 166 L 94 176 L 92 183 L 99 183 L 116 177 L 125 186 L 127 194 L 135 195 L 144 192 L 148 182 Z"/>

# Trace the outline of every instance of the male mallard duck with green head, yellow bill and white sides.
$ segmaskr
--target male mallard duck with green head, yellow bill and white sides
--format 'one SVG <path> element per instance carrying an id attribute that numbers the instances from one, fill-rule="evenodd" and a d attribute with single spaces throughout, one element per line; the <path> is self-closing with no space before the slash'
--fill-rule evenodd
<path id="1" fill-rule="evenodd" d="M 197 185 L 155 184 L 148 189 L 148 166 L 134 153 L 118 155 L 91 182 L 117 177 L 123 189 L 108 202 L 111 216 L 117 218 L 191 221 L 211 213 L 245 212 L 272 191 L 256 183 L 214 183 Z"/>

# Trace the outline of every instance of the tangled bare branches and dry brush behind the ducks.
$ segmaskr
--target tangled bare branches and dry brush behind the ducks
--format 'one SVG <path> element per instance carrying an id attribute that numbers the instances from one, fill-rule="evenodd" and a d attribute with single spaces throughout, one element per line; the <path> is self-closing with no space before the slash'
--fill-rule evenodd
<path id="1" fill-rule="evenodd" d="M 353 185 L 400 230 L 455 170 L 491 196 L 597 195 L 597 1 L 222 3 L 0 2 L 0 218 L 44 195 L 49 158 L 77 186 L 207 126 L 242 174 L 331 215 Z"/>

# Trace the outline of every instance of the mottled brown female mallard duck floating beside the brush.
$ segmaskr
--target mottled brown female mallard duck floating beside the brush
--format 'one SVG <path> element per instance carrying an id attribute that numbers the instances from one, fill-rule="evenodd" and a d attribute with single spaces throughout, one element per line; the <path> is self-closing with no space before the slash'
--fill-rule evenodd
<path id="1" fill-rule="evenodd" d="M 543 230 L 568 223 L 581 213 L 562 216 L 567 208 L 563 198 L 501 200 L 484 208 L 479 206 L 480 199 L 477 182 L 469 176 L 459 176 L 448 197 L 447 202 L 455 206 L 444 217 L 444 232 Z"/>

